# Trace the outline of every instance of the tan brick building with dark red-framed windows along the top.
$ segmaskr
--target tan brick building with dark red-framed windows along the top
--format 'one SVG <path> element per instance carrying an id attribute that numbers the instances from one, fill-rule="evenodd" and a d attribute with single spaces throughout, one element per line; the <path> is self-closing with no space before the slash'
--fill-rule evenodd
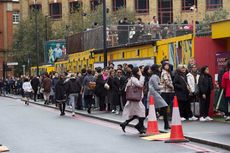
<path id="1" fill-rule="evenodd" d="M 36 1 L 36 4 L 35 4 Z M 68 14 L 79 9 L 94 9 L 102 0 L 24 0 L 21 1 L 23 18 L 29 15 L 30 9 L 38 7 L 45 15 L 59 21 L 68 20 Z M 188 20 L 192 22 L 193 12 L 190 8 L 196 5 L 197 20 L 202 20 L 206 12 L 224 8 L 230 12 L 230 0 L 106 0 L 111 12 L 119 7 L 125 7 L 136 13 L 145 22 L 150 22 L 157 16 L 160 23 L 172 23 Z"/>

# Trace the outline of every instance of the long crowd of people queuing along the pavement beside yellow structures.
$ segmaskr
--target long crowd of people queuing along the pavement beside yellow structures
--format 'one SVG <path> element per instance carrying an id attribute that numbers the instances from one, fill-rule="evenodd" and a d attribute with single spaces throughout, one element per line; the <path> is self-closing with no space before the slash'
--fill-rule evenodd
<path id="1" fill-rule="evenodd" d="M 226 103 L 230 97 L 230 61 L 226 62 L 222 88 L 226 91 Z M 176 95 L 179 103 L 181 120 L 212 121 L 209 117 L 210 96 L 214 88 L 212 76 L 208 66 L 198 70 L 194 59 L 188 65 L 178 65 L 176 70 L 168 60 L 161 65 L 134 67 L 132 64 L 108 67 L 97 67 L 95 70 L 82 69 L 80 73 L 44 73 L 40 77 L 25 77 L 24 80 L 11 78 L 0 82 L 3 94 L 22 94 L 24 97 L 44 98 L 44 104 L 56 104 L 60 108 L 61 116 L 65 115 L 66 104 L 75 116 L 75 109 L 86 110 L 89 114 L 93 110 L 108 111 L 116 115 L 123 113 L 125 127 L 134 119 L 139 122 L 135 128 L 144 133 L 144 119 L 148 116 L 149 97 L 153 96 L 157 116 L 162 116 L 164 128 L 170 129 L 169 119 L 172 114 L 173 98 Z M 139 101 L 127 99 L 126 90 L 129 86 L 141 89 L 142 97 Z M 31 95 L 33 94 L 33 95 Z M 25 104 L 29 105 L 28 99 Z M 199 115 L 194 114 L 191 103 L 199 102 Z M 195 107 L 195 105 L 194 105 Z M 225 112 L 229 120 L 229 112 Z"/>

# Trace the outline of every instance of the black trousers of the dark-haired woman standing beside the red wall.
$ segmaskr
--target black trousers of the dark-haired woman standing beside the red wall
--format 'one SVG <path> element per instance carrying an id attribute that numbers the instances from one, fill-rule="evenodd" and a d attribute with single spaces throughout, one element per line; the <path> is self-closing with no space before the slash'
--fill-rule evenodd
<path id="1" fill-rule="evenodd" d="M 206 95 L 206 99 L 204 99 L 201 95 L 200 97 L 200 117 L 207 117 L 210 106 L 210 94 Z"/>

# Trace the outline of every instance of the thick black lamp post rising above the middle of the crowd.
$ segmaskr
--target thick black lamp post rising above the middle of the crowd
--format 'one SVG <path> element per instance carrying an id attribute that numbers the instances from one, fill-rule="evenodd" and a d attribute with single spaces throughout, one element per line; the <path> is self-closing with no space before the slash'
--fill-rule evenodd
<path id="1" fill-rule="evenodd" d="M 103 0 L 103 49 L 104 49 L 104 68 L 105 68 L 107 67 L 106 0 Z"/>

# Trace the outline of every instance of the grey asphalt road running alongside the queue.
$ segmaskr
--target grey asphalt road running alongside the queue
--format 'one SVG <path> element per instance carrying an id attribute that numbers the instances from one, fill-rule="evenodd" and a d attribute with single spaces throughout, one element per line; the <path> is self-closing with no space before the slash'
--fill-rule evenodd
<path id="1" fill-rule="evenodd" d="M 227 153 L 195 143 L 142 140 L 133 128 L 0 97 L 0 144 L 10 153 Z"/>

